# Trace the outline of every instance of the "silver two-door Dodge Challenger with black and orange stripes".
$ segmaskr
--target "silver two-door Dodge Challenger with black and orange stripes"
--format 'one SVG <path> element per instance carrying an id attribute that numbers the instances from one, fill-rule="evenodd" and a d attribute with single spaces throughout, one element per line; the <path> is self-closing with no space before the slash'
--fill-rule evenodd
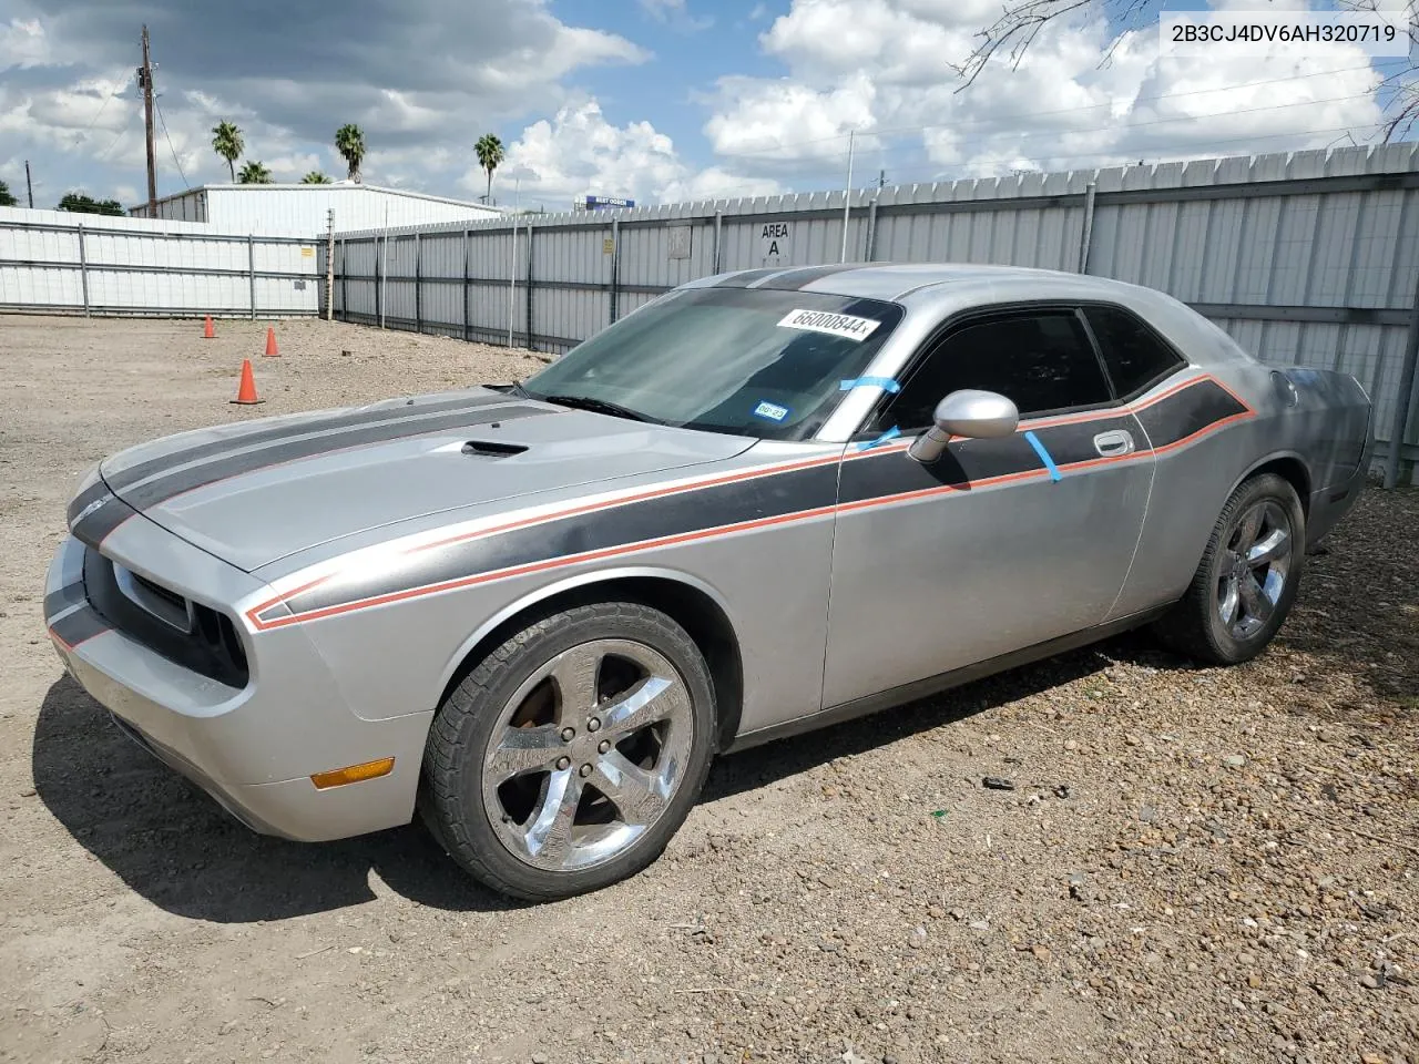
<path id="1" fill-rule="evenodd" d="M 1155 291 L 832 265 L 684 285 L 517 384 L 91 471 L 44 611 L 257 831 L 406 824 L 524 898 L 646 867 L 721 752 L 1151 624 L 1260 653 L 1371 403 Z"/>

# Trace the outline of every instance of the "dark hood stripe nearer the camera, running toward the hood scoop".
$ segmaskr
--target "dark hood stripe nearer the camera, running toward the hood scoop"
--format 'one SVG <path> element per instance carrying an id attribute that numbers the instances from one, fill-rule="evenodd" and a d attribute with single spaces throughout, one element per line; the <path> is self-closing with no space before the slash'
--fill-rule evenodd
<path id="1" fill-rule="evenodd" d="M 203 465 L 175 470 L 167 477 L 158 477 L 156 480 L 150 480 L 146 484 L 140 484 L 136 488 L 129 489 L 125 492 L 123 499 L 136 509 L 148 509 L 149 506 L 156 506 L 159 502 L 165 502 L 175 495 L 182 495 L 186 491 L 194 491 L 196 488 L 216 484 L 217 481 L 224 481 L 231 477 L 257 472 L 258 470 L 280 465 L 281 462 L 297 461 L 301 458 L 315 458 L 322 454 L 331 454 L 332 451 L 363 447 L 376 443 L 389 443 L 392 440 L 402 440 L 424 433 L 436 433 L 450 428 L 473 428 L 474 426 L 491 424 L 494 421 L 515 421 L 524 417 L 538 417 L 555 413 L 556 410 L 535 406 L 507 406 L 494 410 L 484 410 L 482 413 L 458 410 L 451 414 L 444 414 L 443 417 L 373 424 L 358 431 L 341 433 L 338 436 L 318 436 L 309 440 L 292 440 L 285 444 L 275 444 L 255 451 L 233 454 L 226 458 L 204 462 Z M 101 509 L 99 514 L 102 512 L 104 511 Z"/>

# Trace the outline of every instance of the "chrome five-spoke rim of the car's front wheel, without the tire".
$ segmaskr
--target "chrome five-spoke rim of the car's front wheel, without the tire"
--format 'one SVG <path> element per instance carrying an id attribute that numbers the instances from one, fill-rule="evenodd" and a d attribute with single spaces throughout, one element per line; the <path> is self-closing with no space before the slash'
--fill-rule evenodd
<path id="1" fill-rule="evenodd" d="M 660 820 L 692 742 L 690 692 L 663 654 L 630 640 L 583 643 L 508 699 L 482 759 L 484 807 L 525 864 L 603 864 Z"/>

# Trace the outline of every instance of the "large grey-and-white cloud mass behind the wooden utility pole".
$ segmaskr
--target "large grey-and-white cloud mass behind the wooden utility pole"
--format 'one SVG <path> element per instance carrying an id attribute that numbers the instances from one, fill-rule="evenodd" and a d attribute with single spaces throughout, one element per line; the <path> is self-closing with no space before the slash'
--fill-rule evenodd
<path id="1" fill-rule="evenodd" d="M 228 180 L 210 145 L 221 119 L 243 129 L 243 160 L 264 162 L 278 179 L 314 167 L 343 176 L 331 142 L 356 122 L 370 149 L 366 180 L 448 192 L 478 133 L 555 109 L 563 82 L 590 67 L 650 58 L 619 34 L 563 23 L 549 0 L 407 0 L 397 11 L 350 0 L 333 31 L 309 6 L 274 24 L 241 6 L 199 13 L 187 0 L 148 1 L 167 125 L 158 129 L 159 194 L 183 187 L 175 153 L 189 183 Z M 6 7 L 0 160 L 34 159 L 53 184 L 47 200 L 62 187 L 99 194 L 131 186 L 135 172 L 142 179 L 125 18 L 108 0 Z"/>

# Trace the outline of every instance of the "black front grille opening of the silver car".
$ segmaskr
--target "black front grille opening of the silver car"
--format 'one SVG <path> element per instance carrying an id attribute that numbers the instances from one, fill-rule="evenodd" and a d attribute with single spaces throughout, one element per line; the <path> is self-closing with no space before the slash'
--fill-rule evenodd
<path id="1" fill-rule="evenodd" d="M 142 596 L 126 594 L 115 570 L 125 573 L 125 580 L 132 580 Z M 91 546 L 84 548 L 84 590 L 104 620 L 135 643 L 219 684 L 247 685 L 245 648 L 236 624 L 224 613 L 125 570 Z M 138 600 L 146 596 L 152 596 L 152 602 Z"/>

